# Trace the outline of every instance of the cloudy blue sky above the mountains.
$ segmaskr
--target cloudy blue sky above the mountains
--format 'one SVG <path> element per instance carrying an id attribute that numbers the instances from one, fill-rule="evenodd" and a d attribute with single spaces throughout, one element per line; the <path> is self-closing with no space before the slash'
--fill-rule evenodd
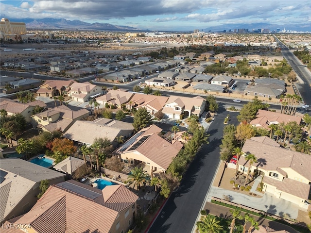
<path id="1" fill-rule="evenodd" d="M 310 0 L 0 0 L 0 9 L 0 17 L 9 19 L 79 19 L 158 31 L 259 22 L 311 24 Z"/>

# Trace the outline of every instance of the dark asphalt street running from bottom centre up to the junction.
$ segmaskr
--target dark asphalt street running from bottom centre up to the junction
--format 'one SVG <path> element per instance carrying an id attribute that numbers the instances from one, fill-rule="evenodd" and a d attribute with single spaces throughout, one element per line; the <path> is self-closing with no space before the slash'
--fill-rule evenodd
<path id="1" fill-rule="evenodd" d="M 203 145 L 176 189 L 155 219 L 148 233 L 190 233 L 205 200 L 219 164 L 219 145 L 223 136 L 224 119 L 229 112 L 220 108 L 209 126 L 209 144 Z M 231 113 L 231 124 L 238 124 L 237 113 Z"/>

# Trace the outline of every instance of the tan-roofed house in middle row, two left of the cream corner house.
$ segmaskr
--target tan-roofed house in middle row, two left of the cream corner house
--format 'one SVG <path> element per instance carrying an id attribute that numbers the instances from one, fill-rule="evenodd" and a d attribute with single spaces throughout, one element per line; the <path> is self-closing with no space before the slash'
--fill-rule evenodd
<path id="1" fill-rule="evenodd" d="M 103 106 L 107 103 L 115 106 L 116 108 L 121 108 L 121 105 L 127 103 L 133 95 L 134 93 L 122 91 L 120 89 L 109 90 L 107 94 L 97 97 L 96 101 Z"/>

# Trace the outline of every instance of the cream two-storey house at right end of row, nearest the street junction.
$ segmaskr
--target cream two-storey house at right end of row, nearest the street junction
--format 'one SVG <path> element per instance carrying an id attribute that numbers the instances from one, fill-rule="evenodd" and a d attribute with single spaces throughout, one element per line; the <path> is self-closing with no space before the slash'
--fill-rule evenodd
<path id="1" fill-rule="evenodd" d="M 205 110 L 206 100 L 200 96 L 178 97 L 170 96 L 167 100 L 162 113 L 168 118 L 183 119 L 191 115 L 201 116 Z"/>

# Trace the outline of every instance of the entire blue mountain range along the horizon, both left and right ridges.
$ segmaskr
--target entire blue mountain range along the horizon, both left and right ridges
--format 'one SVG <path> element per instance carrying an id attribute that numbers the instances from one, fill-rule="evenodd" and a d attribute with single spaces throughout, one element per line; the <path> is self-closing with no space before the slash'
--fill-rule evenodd
<path id="1" fill-rule="evenodd" d="M 27 29 L 58 29 L 58 30 L 98 30 L 98 31 L 149 31 L 138 29 L 129 26 L 113 25 L 109 23 L 87 23 L 81 20 L 67 20 L 64 18 L 22 18 L 22 19 L 10 19 L 11 22 L 24 22 L 26 23 Z M 195 27 L 195 26 L 194 26 Z M 231 29 L 233 32 L 234 29 L 248 29 L 249 32 L 252 29 L 270 29 L 270 32 L 276 30 L 277 28 L 282 31 L 292 30 L 298 32 L 311 32 L 311 24 L 288 24 L 288 25 L 278 25 L 278 24 L 269 24 L 269 23 L 253 23 L 253 24 L 223 24 L 213 27 L 207 27 L 202 29 L 204 32 L 222 32 Z M 194 28 L 193 28 L 194 29 Z M 189 29 L 192 31 L 193 29 Z M 161 31 L 161 30 L 158 30 Z M 172 29 L 172 31 L 175 31 Z"/>

